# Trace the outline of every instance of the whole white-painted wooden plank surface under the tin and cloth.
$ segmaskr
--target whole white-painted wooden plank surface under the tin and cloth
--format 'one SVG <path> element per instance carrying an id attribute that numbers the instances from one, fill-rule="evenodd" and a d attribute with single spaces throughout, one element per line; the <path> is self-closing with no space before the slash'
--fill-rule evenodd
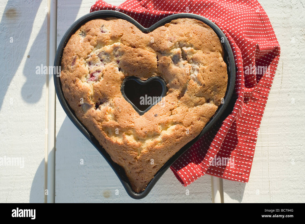
<path id="1" fill-rule="evenodd" d="M 57 44 L 94 2 L 58 1 Z M 249 183 L 224 180 L 224 202 L 304 202 L 305 1 L 259 2 L 278 37 L 281 58 Z M 24 168 L 0 166 L 0 202 L 44 202 L 46 76 L 35 71 L 47 63 L 47 13 L 46 0 L 0 1 L 0 157 L 24 158 Z M 168 170 L 147 197 L 131 199 L 56 102 L 56 202 L 211 202 L 210 180 L 205 175 L 183 187 Z"/>

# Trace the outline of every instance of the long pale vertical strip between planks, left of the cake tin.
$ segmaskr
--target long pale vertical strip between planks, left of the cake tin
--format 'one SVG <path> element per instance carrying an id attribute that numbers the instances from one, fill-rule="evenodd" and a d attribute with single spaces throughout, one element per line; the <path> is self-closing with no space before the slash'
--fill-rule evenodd
<path id="1" fill-rule="evenodd" d="M 49 4 L 49 66 L 54 65 L 56 54 L 56 30 L 57 30 L 57 0 L 50 0 Z M 57 69 L 56 69 L 57 70 Z M 48 82 L 48 144 L 47 144 L 47 203 L 55 202 L 55 106 L 56 93 L 53 82 L 53 73 L 49 74 Z"/>

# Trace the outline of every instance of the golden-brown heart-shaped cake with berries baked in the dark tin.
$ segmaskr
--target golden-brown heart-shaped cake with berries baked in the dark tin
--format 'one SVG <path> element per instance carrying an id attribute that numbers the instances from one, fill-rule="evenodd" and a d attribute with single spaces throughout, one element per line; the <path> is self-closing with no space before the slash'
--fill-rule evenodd
<path id="1" fill-rule="evenodd" d="M 67 42 L 60 81 L 77 118 L 141 192 L 221 104 L 228 82 L 223 57 L 217 34 L 195 19 L 172 20 L 148 34 L 126 20 L 95 19 Z M 128 76 L 159 76 L 166 96 L 140 115 L 121 92 Z"/>

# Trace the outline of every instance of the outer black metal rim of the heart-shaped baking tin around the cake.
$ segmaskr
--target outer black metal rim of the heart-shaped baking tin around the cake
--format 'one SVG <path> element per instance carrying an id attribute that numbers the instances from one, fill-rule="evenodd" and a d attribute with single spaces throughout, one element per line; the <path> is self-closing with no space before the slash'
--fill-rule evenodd
<path id="1" fill-rule="evenodd" d="M 194 144 L 200 137 L 202 137 L 203 134 L 206 133 L 224 113 L 224 111 L 228 107 L 228 104 L 231 100 L 231 96 L 233 94 L 233 90 L 234 90 L 234 86 L 235 86 L 235 61 L 234 61 L 232 49 L 231 49 L 230 44 L 229 44 L 226 36 L 224 35 L 224 33 L 215 23 L 206 19 L 203 16 L 199 16 L 199 15 L 191 14 L 191 13 L 178 13 L 178 14 L 170 15 L 170 16 L 167 16 L 167 17 L 161 19 L 160 21 L 153 24 L 149 28 L 144 28 L 137 21 L 132 19 L 130 16 L 125 15 L 124 13 L 112 11 L 112 10 L 100 10 L 100 11 L 91 12 L 91 13 L 88 13 L 88 14 L 82 16 L 80 19 L 76 20 L 72 24 L 72 26 L 66 31 L 66 33 L 64 34 L 62 40 L 60 41 L 60 43 L 58 45 L 56 56 L 55 56 L 55 61 L 54 61 L 54 66 L 61 66 L 61 57 L 63 54 L 63 49 L 66 46 L 66 43 L 69 40 L 70 36 L 72 34 L 74 34 L 75 31 L 77 29 L 79 29 L 79 27 L 81 27 L 82 24 L 88 22 L 89 20 L 98 19 L 98 18 L 107 18 L 107 17 L 116 17 L 116 18 L 127 20 L 128 22 L 134 24 L 143 33 L 149 33 L 152 30 L 155 30 L 157 27 L 163 26 L 165 23 L 168 23 L 174 19 L 192 18 L 192 19 L 202 21 L 203 23 L 206 23 L 208 26 L 210 26 L 214 30 L 214 32 L 217 34 L 217 36 L 221 40 L 224 40 L 224 43 L 222 43 L 224 52 L 225 52 L 224 61 L 226 62 L 227 67 L 228 67 L 228 69 L 227 69 L 228 70 L 228 86 L 227 86 L 226 95 L 224 97 L 224 103 L 219 106 L 217 112 L 210 119 L 210 121 L 206 124 L 206 126 L 203 128 L 202 132 L 196 138 L 194 138 L 192 141 L 188 142 L 184 147 L 182 147 L 173 157 L 171 157 L 161 167 L 161 169 L 156 173 L 154 178 L 152 178 L 152 180 L 148 183 L 145 190 L 140 193 L 136 193 L 132 190 L 130 183 L 125 175 L 124 169 L 112 161 L 112 159 L 110 158 L 108 153 L 105 151 L 105 149 L 102 148 L 102 146 L 99 144 L 98 140 L 96 140 L 95 137 L 77 119 L 73 110 L 70 108 L 70 106 L 68 105 L 68 103 L 63 95 L 60 78 L 56 74 L 54 74 L 54 84 L 55 84 L 56 94 L 57 94 L 59 102 L 62 105 L 67 116 L 70 118 L 72 123 L 74 123 L 74 125 L 78 128 L 78 130 L 80 130 L 81 133 L 83 133 L 84 136 L 95 146 L 95 148 L 102 154 L 102 156 L 106 159 L 106 161 L 109 163 L 109 165 L 113 168 L 114 172 L 117 174 L 118 178 L 120 179 L 121 183 L 123 184 L 123 187 L 125 188 L 127 194 L 134 199 L 141 199 L 150 192 L 152 187 L 160 179 L 160 177 L 163 175 L 163 173 L 175 162 L 175 160 L 177 158 L 179 158 L 185 151 L 187 151 L 188 148 L 190 148 L 192 146 L 192 144 Z"/>

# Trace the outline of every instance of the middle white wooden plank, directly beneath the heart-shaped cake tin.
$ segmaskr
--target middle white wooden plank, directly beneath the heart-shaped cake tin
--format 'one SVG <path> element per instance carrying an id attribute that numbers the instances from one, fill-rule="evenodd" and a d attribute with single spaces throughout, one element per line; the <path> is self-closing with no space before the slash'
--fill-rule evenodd
<path id="1" fill-rule="evenodd" d="M 58 43 L 69 26 L 90 11 L 93 2 L 58 2 Z M 107 2 L 119 5 L 123 1 Z M 56 105 L 56 202 L 211 202 L 210 176 L 183 187 L 170 170 L 147 197 L 131 199 L 108 163 L 66 117 L 58 101 Z"/>

